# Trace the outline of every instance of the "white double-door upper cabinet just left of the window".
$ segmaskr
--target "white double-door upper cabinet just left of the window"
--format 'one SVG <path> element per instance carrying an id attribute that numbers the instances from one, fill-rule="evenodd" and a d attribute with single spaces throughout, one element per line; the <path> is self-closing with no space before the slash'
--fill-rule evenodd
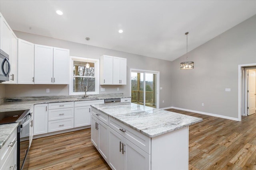
<path id="1" fill-rule="evenodd" d="M 35 84 L 68 84 L 69 49 L 35 45 Z"/>

